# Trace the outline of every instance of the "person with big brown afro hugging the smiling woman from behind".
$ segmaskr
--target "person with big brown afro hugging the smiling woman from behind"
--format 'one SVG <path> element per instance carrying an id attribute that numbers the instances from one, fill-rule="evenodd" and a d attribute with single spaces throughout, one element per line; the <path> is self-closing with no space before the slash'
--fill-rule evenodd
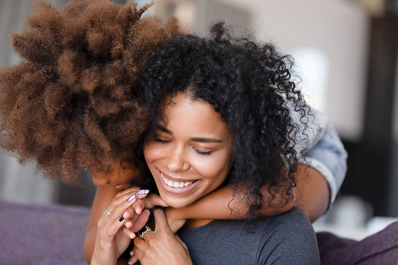
<path id="1" fill-rule="evenodd" d="M 156 17 L 140 18 L 148 6 L 137 9 L 133 2 L 116 5 L 106 0 L 79 0 L 59 11 L 40 1 L 34 7 L 37 12 L 27 17 L 29 27 L 11 33 L 14 50 L 23 61 L 0 70 L 0 146 L 20 162 L 35 160 L 46 177 L 66 183 L 79 183 L 81 168 L 93 173 L 97 193 L 85 243 L 90 261 L 99 220 L 105 218 L 103 209 L 123 192 L 135 193 L 137 199 L 147 196 L 137 194 L 137 187 L 126 189 L 142 183 L 134 146 L 149 119 L 148 109 L 137 101 L 137 85 L 144 58 L 180 29 L 173 18 L 164 24 Z M 310 220 L 333 202 L 346 159 L 332 128 L 315 132 L 307 154 L 317 163 L 301 160 L 313 168 L 296 174 L 298 180 L 306 180 L 298 181 L 296 193 L 298 205 Z M 324 142 L 330 143 L 322 145 Z M 322 155 L 317 157 L 319 151 Z M 324 154 L 336 158 L 323 159 Z M 179 227 L 188 218 L 244 218 L 247 206 L 231 201 L 235 191 L 223 186 L 189 207 L 168 209 L 168 221 Z M 266 187 L 261 192 L 273 197 Z M 274 202 L 280 199 L 275 205 L 285 206 L 263 204 L 259 214 L 282 213 L 293 206 L 292 200 L 286 203 L 292 197 L 274 195 Z M 138 202 L 138 213 L 155 204 L 165 205 L 156 194 Z M 126 213 L 129 216 L 131 212 Z M 133 230 L 146 221 L 148 212 L 141 216 Z"/>

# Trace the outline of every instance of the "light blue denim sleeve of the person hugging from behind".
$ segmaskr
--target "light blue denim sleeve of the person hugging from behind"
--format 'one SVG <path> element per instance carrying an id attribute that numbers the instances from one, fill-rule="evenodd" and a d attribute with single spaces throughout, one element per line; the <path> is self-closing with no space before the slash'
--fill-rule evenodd
<path id="1" fill-rule="evenodd" d="M 311 133 L 306 133 L 309 138 L 306 146 L 298 150 L 302 151 L 298 162 L 316 169 L 325 177 L 330 189 L 329 209 L 347 172 L 347 151 L 325 116 L 315 110 L 311 110 L 311 113 L 314 117 L 309 122 Z"/>

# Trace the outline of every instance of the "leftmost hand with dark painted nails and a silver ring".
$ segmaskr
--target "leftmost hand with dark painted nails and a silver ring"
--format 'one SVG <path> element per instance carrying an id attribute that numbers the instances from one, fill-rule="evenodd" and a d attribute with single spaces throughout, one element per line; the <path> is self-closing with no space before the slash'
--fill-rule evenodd
<path id="1" fill-rule="evenodd" d="M 130 232 L 126 236 L 121 228 L 124 224 L 124 213 L 137 199 L 144 198 L 147 194 L 139 194 L 138 188 L 129 188 L 116 194 L 114 199 L 106 207 L 110 213 L 108 216 L 102 214 L 97 226 L 96 242 L 92 264 L 116 264 L 117 259 L 127 249 L 134 234 Z M 149 211 L 139 211 L 136 215 L 136 223 L 143 226 L 149 217 Z"/>

